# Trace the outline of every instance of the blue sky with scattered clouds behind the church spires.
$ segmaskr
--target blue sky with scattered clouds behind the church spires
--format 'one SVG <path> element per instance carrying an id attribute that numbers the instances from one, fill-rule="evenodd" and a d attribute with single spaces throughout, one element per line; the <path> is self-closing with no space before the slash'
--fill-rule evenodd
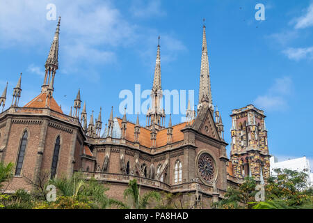
<path id="1" fill-rule="evenodd" d="M 20 105 L 40 93 L 56 29 L 56 21 L 47 20 L 49 3 L 62 17 L 54 98 L 66 114 L 80 88 L 88 116 L 100 106 L 102 121 L 111 106 L 122 116 L 120 91 L 134 91 L 135 84 L 152 87 L 158 36 L 163 89 L 194 90 L 197 102 L 205 18 L 212 97 L 225 140 L 230 142 L 232 109 L 254 104 L 267 116 L 270 153 L 279 160 L 306 155 L 313 167 L 313 1 L 0 0 L 0 91 L 8 81 L 6 107 L 20 72 Z M 257 3 L 265 6 L 265 21 L 255 20 Z M 172 122 L 181 117 L 173 115 Z"/>

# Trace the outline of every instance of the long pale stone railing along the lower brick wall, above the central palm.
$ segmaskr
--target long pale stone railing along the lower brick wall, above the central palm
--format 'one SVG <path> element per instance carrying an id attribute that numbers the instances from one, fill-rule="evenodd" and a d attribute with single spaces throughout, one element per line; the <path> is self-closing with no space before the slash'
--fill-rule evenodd
<path id="1" fill-rule="evenodd" d="M 109 182 L 119 182 L 119 183 L 129 183 L 129 180 L 136 179 L 138 185 L 143 185 L 147 187 L 153 187 L 160 190 L 170 190 L 170 185 L 163 183 L 159 180 L 152 180 L 149 178 L 142 178 L 140 176 L 132 176 L 125 174 L 107 174 L 107 173 L 97 173 L 97 172 L 83 172 L 83 176 L 86 179 L 95 178 L 96 180 L 103 180 Z"/>

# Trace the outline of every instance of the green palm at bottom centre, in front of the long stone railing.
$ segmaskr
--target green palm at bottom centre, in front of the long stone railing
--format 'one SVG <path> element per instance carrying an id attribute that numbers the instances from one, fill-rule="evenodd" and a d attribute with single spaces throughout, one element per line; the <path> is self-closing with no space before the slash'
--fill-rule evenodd
<path id="1" fill-rule="evenodd" d="M 124 191 L 124 197 L 125 199 L 131 200 L 131 205 L 127 205 L 126 203 L 123 203 L 122 201 L 115 201 L 111 200 L 110 204 L 119 206 L 123 209 L 145 209 L 150 205 L 150 201 L 152 199 L 156 199 L 159 201 L 161 199 L 161 194 L 159 192 L 150 191 L 143 196 L 140 196 L 140 191 L 138 188 L 137 180 L 129 180 L 129 184 L 127 189 Z"/>

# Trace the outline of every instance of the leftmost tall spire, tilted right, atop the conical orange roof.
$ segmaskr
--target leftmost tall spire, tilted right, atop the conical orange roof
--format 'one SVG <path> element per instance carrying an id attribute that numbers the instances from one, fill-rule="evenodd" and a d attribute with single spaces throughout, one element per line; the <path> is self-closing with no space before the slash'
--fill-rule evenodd
<path id="1" fill-rule="evenodd" d="M 45 63 L 45 79 L 42 84 L 42 93 L 47 92 L 48 89 L 54 89 L 54 77 L 56 70 L 58 70 L 58 42 L 60 35 L 60 22 L 61 17 L 58 17 L 58 24 L 56 26 L 56 32 L 54 33 L 54 40 L 51 44 L 50 51 Z M 51 85 L 51 86 L 50 86 Z"/>

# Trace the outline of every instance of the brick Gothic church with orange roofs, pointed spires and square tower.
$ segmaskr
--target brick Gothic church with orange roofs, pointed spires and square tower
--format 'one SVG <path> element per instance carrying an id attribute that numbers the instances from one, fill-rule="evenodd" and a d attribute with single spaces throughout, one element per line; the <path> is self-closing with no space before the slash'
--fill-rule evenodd
<path id="1" fill-rule="evenodd" d="M 0 162 L 15 164 L 8 191 L 30 191 L 31 185 L 25 178 L 38 182 L 47 173 L 49 178 L 57 178 L 82 171 L 87 179 L 109 183 L 108 196 L 115 199 L 124 199 L 129 180 L 136 178 L 141 192 L 179 193 L 189 208 L 209 208 L 211 201 L 222 199 L 227 187 L 237 187 L 245 176 L 254 176 L 260 183 L 266 181 L 269 155 L 262 110 L 248 105 L 232 111 L 230 159 L 227 157 L 224 125 L 211 96 L 205 26 L 197 111 L 188 103 L 185 122 L 172 125 L 171 116 L 167 115 L 169 121 L 165 125 L 158 45 L 147 125 L 141 126 L 138 116 L 136 123 L 128 121 L 126 111 L 122 117 L 114 116 L 112 107 L 102 130 L 101 109 L 95 114 L 97 118 L 93 112 L 89 114 L 88 122 L 86 102 L 81 105 L 80 91 L 68 115 L 54 98 L 60 20 L 45 63 L 40 93 L 26 105 L 19 105 L 21 74 L 10 107 L 4 109 L 8 104 L 7 87 L 0 98 Z"/>

